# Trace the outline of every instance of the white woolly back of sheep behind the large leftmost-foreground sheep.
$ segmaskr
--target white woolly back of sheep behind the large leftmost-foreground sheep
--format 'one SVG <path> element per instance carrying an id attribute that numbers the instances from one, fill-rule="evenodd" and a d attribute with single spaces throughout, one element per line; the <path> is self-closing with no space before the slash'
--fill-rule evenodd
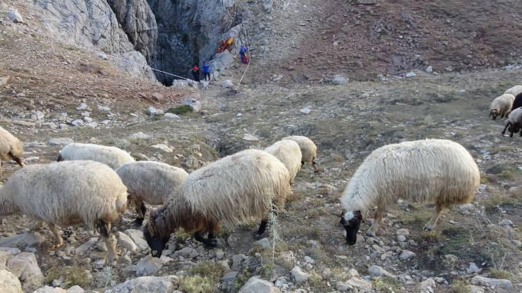
<path id="1" fill-rule="evenodd" d="M 99 161 L 116 169 L 134 158 L 125 150 L 106 145 L 90 143 L 70 143 L 65 145 L 58 155 L 57 161 L 91 160 Z"/>

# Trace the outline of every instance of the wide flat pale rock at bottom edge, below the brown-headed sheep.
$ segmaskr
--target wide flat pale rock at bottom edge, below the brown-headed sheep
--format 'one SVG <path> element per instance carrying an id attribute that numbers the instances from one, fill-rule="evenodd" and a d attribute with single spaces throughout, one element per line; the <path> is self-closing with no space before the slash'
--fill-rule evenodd
<path id="1" fill-rule="evenodd" d="M 116 285 L 105 293 L 173 292 L 177 287 L 177 276 L 140 277 Z"/>

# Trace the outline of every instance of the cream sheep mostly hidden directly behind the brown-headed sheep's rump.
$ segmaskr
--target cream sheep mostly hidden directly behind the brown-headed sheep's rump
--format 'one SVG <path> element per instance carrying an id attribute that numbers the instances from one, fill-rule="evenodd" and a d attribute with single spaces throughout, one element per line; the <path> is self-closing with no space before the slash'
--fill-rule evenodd
<path id="1" fill-rule="evenodd" d="M 283 139 L 264 149 L 278 158 L 290 172 L 290 182 L 294 182 L 296 174 L 301 170 L 301 148 L 295 141 Z"/>

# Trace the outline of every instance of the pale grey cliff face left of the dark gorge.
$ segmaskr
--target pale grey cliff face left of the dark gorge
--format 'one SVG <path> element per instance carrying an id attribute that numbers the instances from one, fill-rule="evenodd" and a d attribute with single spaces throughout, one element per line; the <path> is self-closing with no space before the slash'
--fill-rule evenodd
<path id="1" fill-rule="evenodd" d="M 142 54 L 134 50 L 106 0 L 33 0 L 46 33 L 71 45 L 116 57 L 116 65 L 135 77 L 155 79 Z"/>

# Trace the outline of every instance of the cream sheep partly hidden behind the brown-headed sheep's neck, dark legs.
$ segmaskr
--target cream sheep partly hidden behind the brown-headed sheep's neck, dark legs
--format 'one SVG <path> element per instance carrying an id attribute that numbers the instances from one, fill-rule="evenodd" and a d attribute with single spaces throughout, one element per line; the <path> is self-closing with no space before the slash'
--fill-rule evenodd
<path id="1" fill-rule="evenodd" d="M 173 167 L 157 161 L 133 161 L 116 169 L 116 173 L 127 187 L 128 200 L 136 203 L 137 225 L 143 223 L 147 208 L 150 205 L 163 205 L 176 191 L 189 173 L 182 168 Z"/>

